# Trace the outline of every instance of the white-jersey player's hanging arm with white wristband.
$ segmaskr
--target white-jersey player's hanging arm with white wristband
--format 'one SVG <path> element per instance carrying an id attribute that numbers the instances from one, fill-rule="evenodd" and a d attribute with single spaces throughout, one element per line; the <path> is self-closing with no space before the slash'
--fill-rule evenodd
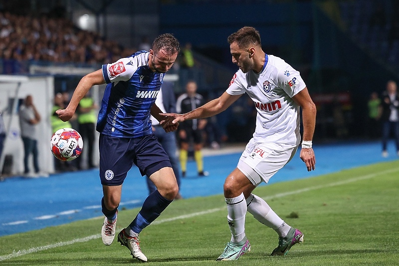
<path id="1" fill-rule="evenodd" d="M 299 157 L 305 163 L 308 171 L 312 171 L 315 170 L 316 165 L 316 157 L 311 145 L 316 125 L 316 105 L 310 98 L 307 88 L 297 93 L 293 99 L 302 108 L 303 140 Z"/>

